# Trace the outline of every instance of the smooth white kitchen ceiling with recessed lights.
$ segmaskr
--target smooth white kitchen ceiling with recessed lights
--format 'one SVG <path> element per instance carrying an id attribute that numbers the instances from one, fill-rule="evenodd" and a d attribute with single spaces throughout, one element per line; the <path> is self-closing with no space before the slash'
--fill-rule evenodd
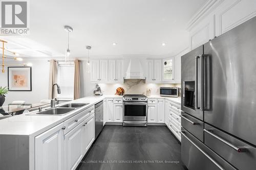
<path id="1" fill-rule="evenodd" d="M 29 1 L 30 34 L 2 36 L 10 50 L 29 57 L 63 57 L 70 33 L 71 57 L 175 55 L 188 45 L 189 19 L 205 0 Z M 113 45 L 113 43 L 117 43 Z M 165 46 L 162 46 L 165 43 Z"/>

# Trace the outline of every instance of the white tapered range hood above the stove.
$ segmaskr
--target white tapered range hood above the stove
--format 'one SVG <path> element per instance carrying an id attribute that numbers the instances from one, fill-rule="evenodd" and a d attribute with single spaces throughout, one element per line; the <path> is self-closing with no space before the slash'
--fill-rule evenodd
<path id="1" fill-rule="evenodd" d="M 143 64 L 140 59 L 131 58 L 124 79 L 146 79 L 143 70 Z"/>

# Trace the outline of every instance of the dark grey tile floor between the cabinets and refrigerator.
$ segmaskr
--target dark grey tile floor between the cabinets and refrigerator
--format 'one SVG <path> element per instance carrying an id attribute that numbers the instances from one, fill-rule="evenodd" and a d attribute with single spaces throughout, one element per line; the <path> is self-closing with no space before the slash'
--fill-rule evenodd
<path id="1" fill-rule="evenodd" d="M 167 127 L 105 126 L 79 169 L 186 168 L 181 145 Z"/>

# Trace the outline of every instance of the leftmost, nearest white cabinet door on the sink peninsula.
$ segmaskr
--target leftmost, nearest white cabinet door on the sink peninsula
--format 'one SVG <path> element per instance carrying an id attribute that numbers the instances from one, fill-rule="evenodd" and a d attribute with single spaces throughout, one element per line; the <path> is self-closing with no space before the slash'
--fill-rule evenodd
<path id="1" fill-rule="evenodd" d="M 35 169 L 64 169 L 64 123 L 35 137 Z"/>

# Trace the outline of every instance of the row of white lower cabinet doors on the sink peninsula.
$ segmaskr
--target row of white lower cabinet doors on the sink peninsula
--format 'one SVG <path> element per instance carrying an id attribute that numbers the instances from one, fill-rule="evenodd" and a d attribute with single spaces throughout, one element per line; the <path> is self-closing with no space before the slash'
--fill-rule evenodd
<path id="1" fill-rule="evenodd" d="M 78 113 L 79 114 L 79 113 Z M 75 169 L 95 139 L 95 117 L 90 115 L 67 134 L 61 123 L 35 137 L 35 169 Z"/>

